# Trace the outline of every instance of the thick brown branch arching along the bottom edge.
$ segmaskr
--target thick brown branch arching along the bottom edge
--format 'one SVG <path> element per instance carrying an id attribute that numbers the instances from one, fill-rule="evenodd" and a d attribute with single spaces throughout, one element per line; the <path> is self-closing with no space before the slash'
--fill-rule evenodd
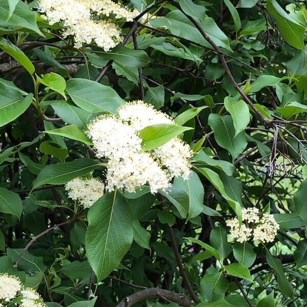
<path id="1" fill-rule="evenodd" d="M 116 307 L 130 307 L 142 300 L 152 297 L 164 298 L 169 301 L 175 302 L 183 307 L 192 306 L 192 302 L 189 299 L 187 299 L 183 294 L 179 294 L 165 289 L 147 288 L 138 291 L 134 294 L 131 294 L 129 296 L 126 296 L 117 304 Z"/>

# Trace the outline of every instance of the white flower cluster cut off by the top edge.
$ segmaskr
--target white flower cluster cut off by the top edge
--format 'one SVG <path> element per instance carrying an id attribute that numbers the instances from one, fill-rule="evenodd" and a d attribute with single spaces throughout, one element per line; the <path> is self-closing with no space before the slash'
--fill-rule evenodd
<path id="1" fill-rule="evenodd" d="M 115 18 L 131 21 L 138 13 L 111 0 L 40 0 L 39 11 L 45 13 L 50 25 L 63 24 L 62 35 L 64 38 L 73 35 L 75 48 L 95 41 L 106 52 L 121 42 L 121 31 L 112 19 L 97 20 L 97 16 L 113 14 Z"/>

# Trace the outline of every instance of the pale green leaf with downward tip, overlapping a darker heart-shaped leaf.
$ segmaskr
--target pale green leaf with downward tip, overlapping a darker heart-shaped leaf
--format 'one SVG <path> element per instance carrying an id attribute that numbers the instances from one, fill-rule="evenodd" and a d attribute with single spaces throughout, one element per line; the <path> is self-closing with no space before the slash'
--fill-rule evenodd
<path id="1" fill-rule="evenodd" d="M 236 137 L 241 131 L 244 131 L 250 121 L 250 113 L 248 105 L 243 100 L 235 100 L 230 97 L 225 97 L 224 105 L 230 113 L 235 129 Z"/>

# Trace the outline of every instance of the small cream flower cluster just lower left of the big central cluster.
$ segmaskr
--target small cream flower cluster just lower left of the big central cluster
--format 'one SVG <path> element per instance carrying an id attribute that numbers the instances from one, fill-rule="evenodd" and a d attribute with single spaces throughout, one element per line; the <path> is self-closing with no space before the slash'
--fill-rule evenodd
<path id="1" fill-rule="evenodd" d="M 68 197 L 90 208 L 103 195 L 104 184 L 96 178 L 75 178 L 65 184 Z"/>

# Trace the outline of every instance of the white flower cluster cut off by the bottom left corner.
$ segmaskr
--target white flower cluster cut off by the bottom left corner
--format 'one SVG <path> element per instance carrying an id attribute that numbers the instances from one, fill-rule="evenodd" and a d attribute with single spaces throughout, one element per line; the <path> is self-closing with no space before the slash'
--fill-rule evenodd
<path id="1" fill-rule="evenodd" d="M 17 296 L 20 296 L 19 307 L 46 307 L 46 304 L 34 289 L 24 288 L 15 276 L 0 274 L 0 306 L 7 305 Z"/>

